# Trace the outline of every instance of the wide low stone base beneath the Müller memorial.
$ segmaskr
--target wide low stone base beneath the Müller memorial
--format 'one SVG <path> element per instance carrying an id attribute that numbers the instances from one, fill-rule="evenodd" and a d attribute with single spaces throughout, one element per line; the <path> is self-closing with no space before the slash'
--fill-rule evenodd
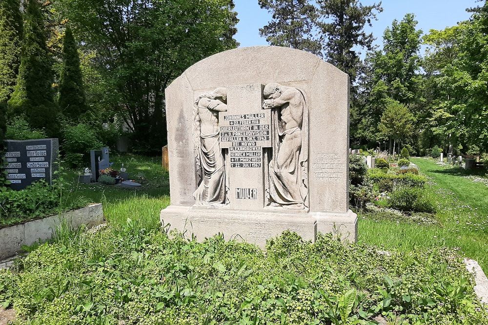
<path id="1" fill-rule="evenodd" d="M 178 229 L 186 238 L 197 240 L 224 234 L 227 240 L 238 239 L 260 247 L 266 239 L 279 236 L 290 230 L 304 240 L 315 241 L 317 233 L 333 233 L 335 237 L 356 242 L 358 219 L 355 213 L 309 212 L 293 210 L 243 211 L 229 209 L 208 209 L 171 205 L 161 211 L 161 223 L 169 224 L 169 231 Z"/>

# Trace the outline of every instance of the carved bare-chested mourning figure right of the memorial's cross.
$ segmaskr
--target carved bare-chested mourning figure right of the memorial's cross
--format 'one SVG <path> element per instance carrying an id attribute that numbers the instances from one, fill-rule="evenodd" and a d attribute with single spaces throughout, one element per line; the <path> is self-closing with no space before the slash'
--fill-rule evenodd
<path id="1" fill-rule="evenodd" d="M 286 209 L 308 207 L 308 108 L 305 94 L 269 83 L 264 109 L 272 112 L 273 156 L 269 163 L 269 205 Z"/>

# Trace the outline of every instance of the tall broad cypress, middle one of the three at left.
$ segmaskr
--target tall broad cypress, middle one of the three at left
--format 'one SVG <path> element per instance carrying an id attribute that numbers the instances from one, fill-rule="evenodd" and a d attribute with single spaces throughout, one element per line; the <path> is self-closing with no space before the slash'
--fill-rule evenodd
<path id="1" fill-rule="evenodd" d="M 46 44 L 46 27 L 37 0 L 26 1 L 17 85 L 8 104 L 11 115 L 25 114 L 34 129 L 45 128 L 48 136 L 59 132 L 59 109 L 54 103 L 52 61 Z"/>

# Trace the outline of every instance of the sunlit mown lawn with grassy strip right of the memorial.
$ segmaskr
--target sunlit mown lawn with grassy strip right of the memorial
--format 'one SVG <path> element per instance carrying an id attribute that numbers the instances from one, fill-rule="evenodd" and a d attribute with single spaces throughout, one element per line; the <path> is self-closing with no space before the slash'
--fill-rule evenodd
<path id="1" fill-rule="evenodd" d="M 439 225 L 423 226 L 358 212 L 359 242 L 384 249 L 455 248 L 488 273 L 488 180 L 485 172 L 465 171 L 433 159 L 411 158 L 429 178 L 428 191 L 439 206 Z"/>

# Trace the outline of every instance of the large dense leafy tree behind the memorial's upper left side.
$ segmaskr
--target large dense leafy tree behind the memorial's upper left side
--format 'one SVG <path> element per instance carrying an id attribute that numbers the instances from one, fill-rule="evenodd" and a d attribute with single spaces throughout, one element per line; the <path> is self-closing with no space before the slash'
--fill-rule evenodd
<path id="1" fill-rule="evenodd" d="M 97 55 L 106 97 L 140 152 L 159 153 L 166 143 L 164 89 L 171 81 L 238 46 L 232 0 L 57 0 L 53 6 L 82 37 L 82 50 Z"/>

